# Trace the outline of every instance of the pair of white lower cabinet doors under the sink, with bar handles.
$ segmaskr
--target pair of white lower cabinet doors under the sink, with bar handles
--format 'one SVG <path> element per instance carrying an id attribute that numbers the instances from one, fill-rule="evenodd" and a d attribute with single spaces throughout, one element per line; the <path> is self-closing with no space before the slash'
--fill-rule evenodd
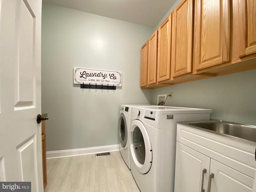
<path id="1" fill-rule="evenodd" d="M 253 181 L 177 142 L 174 192 L 252 192 Z"/>

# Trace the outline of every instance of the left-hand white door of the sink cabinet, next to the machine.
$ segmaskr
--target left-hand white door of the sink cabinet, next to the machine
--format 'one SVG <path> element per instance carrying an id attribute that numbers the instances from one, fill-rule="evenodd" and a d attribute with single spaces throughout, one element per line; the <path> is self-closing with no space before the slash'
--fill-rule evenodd
<path id="1" fill-rule="evenodd" d="M 209 170 L 208 156 L 177 142 L 174 192 L 201 192 L 202 180 L 206 191 Z"/>

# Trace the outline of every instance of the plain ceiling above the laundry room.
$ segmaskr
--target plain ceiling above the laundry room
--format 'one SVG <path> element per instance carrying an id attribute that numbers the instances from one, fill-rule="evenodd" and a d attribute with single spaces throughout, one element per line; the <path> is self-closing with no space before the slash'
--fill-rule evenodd
<path id="1" fill-rule="evenodd" d="M 42 0 L 66 8 L 156 27 L 176 0 Z"/>

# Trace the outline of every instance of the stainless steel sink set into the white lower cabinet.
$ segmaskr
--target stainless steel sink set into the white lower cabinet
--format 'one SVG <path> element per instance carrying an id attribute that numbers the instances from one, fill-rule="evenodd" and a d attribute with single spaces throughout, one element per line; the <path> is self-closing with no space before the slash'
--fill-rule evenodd
<path id="1" fill-rule="evenodd" d="M 238 124 L 226 121 L 204 121 L 182 123 L 195 128 L 201 128 L 224 136 L 238 138 L 256 143 L 256 126 Z"/>

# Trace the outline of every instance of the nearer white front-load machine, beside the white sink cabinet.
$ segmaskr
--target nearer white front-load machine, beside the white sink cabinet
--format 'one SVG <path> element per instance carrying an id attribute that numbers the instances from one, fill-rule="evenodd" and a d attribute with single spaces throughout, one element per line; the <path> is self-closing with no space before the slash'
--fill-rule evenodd
<path id="1" fill-rule="evenodd" d="M 209 120 L 212 110 L 180 107 L 132 108 L 130 167 L 141 192 L 173 192 L 177 123 Z"/>

